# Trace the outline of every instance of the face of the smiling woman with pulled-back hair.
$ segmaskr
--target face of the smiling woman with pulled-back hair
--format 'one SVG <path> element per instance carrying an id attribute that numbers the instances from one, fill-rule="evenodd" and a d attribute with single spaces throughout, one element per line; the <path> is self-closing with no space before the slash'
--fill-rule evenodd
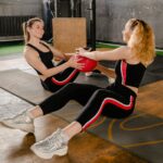
<path id="1" fill-rule="evenodd" d="M 38 39 L 41 39 L 45 34 L 43 27 L 43 22 L 36 21 L 33 26 L 28 28 L 30 37 L 37 37 Z"/>

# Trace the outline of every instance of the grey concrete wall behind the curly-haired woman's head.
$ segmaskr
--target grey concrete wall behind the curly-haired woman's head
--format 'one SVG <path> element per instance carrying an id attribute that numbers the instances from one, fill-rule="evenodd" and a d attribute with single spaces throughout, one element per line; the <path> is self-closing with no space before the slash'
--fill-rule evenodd
<path id="1" fill-rule="evenodd" d="M 89 16 L 86 10 L 88 3 L 89 0 L 83 0 L 83 16 L 86 17 Z M 97 0 L 97 39 L 123 42 L 122 29 L 126 21 L 137 17 L 147 21 L 153 27 L 156 47 L 163 48 L 162 9 L 163 0 Z"/>

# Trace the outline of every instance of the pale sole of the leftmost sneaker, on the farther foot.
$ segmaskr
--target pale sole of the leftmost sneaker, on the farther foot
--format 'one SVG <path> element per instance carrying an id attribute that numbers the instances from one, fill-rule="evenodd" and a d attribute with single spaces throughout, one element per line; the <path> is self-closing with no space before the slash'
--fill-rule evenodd
<path id="1" fill-rule="evenodd" d="M 33 125 L 23 125 L 23 124 L 12 124 L 8 122 L 2 122 L 7 127 L 14 128 L 14 129 L 21 129 L 26 133 L 33 133 L 34 134 L 34 126 Z"/>

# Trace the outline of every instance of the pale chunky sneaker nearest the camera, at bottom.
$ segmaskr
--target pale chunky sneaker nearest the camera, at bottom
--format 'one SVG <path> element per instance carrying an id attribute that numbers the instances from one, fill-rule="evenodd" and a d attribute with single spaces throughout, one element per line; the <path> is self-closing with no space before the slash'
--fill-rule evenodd
<path id="1" fill-rule="evenodd" d="M 42 159 L 51 159 L 53 155 L 65 155 L 67 153 L 67 136 L 59 128 L 46 139 L 33 145 L 30 149 Z"/>

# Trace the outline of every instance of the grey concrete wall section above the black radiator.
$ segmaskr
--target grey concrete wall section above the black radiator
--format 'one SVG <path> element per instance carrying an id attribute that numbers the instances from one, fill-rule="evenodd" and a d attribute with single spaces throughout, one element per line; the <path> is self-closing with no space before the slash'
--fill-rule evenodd
<path id="1" fill-rule="evenodd" d="M 36 15 L 41 16 L 42 0 L 0 0 L 0 16 Z"/>

